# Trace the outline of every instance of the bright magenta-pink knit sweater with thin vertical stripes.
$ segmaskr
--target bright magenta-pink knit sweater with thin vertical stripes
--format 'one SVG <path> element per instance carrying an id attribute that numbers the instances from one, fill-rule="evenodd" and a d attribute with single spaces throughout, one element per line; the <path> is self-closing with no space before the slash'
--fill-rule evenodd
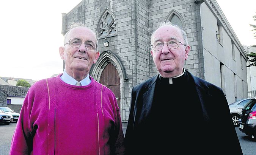
<path id="1" fill-rule="evenodd" d="M 92 77 L 81 87 L 66 84 L 60 76 L 38 81 L 28 90 L 10 155 L 123 154 L 113 92 Z"/>

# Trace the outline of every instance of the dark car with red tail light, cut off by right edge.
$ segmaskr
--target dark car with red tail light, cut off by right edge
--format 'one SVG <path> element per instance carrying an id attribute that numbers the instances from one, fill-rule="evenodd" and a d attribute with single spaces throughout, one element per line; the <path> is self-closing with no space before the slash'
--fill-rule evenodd
<path id="1" fill-rule="evenodd" d="M 256 98 L 243 107 L 239 119 L 239 130 L 256 139 Z"/>

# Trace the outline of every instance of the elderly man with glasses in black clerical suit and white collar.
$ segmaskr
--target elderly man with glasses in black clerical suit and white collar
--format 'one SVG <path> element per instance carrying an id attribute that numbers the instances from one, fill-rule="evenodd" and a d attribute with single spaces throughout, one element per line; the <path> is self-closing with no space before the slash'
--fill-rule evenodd
<path id="1" fill-rule="evenodd" d="M 242 154 L 221 88 L 183 67 L 186 33 L 162 22 L 151 46 L 159 74 L 132 89 L 126 154 Z"/>

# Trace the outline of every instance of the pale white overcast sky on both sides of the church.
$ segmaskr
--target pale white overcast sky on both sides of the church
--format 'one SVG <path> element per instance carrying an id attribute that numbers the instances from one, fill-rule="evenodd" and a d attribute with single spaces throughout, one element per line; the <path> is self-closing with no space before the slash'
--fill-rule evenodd
<path id="1" fill-rule="evenodd" d="M 63 72 L 61 13 L 82 0 L 3 0 L 0 2 L 0 76 L 40 80 Z M 217 0 L 242 45 L 256 44 L 256 0 Z"/>

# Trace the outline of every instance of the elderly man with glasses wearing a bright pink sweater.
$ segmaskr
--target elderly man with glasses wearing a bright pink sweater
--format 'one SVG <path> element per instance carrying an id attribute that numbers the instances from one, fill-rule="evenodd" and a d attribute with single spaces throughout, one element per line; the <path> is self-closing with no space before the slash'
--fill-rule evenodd
<path id="1" fill-rule="evenodd" d="M 89 71 L 99 57 L 95 33 L 74 23 L 59 48 L 62 74 L 28 90 L 10 155 L 124 154 L 115 95 Z"/>

